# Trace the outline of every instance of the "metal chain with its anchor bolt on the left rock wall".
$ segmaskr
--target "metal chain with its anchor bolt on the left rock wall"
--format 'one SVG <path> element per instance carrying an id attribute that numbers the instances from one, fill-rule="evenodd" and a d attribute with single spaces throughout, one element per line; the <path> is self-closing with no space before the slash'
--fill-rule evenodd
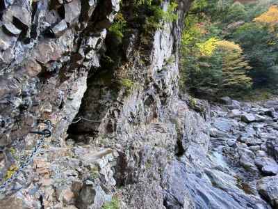
<path id="1" fill-rule="evenodd" d="M 24 171 L 24 169 L 32 162 L 33 157 L 37 154 L 38 150 L 40 149 L 40 147 L 44 143 L 44 139 L 48 138 L 48 137 L 51 137 L 51 134 L 52 134 L 52 132 L 51 132 L 51 129 L 52 129 L 51 121 L 43 121 L 43 122 L 40 122 L 40 123 L 44 123 L 45 125 L 47 125 L 47 128 L 42 130 L 42 131 L 31 131 L 30 133 L 31 134 L 40 134 L 40 135 L 42 135 L 42 137 L 40 137 L 37 144 L 35 145 L 35 148 L 33 148 L 31 155 L 26 157 L 24 162 L 22 162 L 19 169 L 17 169 L 17 171 L 15 171 L 15 173 L 13 173 L 13 175 L 10 178 L 5 180 L 5 182 L 2 185 L 0 185 L 0 193 L 5 193 L 8 185 L 13 183 L 18 178 L 20 173 L 22 173 Z"/>

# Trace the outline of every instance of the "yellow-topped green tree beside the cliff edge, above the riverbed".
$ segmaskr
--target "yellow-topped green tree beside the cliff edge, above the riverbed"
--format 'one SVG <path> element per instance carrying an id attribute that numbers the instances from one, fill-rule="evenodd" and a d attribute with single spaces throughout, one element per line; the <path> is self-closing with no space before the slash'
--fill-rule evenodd
<path id="1" fill-rule="evenodd" d="M 248 65 L 239 45 L 207 35 L 204 25 L 195 23 L 183 34 L 182 80 L 192 93 L 224 95 L 233 89 L 250 88 Z"/>

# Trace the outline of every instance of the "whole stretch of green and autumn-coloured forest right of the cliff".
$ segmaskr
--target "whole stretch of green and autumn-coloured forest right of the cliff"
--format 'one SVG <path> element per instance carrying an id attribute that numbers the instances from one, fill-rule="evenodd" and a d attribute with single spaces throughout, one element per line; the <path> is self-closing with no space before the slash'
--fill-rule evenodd
<path id="1" fill-rule="evenodd" d="M 278 7 L 272 5 L 277 3 L 195 1 L 182 36 L 181 85 L 195 95 L 276 89 Z"/>

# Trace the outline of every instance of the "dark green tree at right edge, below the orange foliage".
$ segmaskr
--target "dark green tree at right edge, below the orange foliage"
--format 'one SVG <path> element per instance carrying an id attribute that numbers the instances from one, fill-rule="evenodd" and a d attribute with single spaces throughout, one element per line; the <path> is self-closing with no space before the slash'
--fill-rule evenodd
<path id="1" fill-rule="evenodd" d="M 242 45 L 247 59 L 254 68 L 250 72 L 255 86 L 276 88 L 278 84 L 278 38 L 267 25 L 256 22 L 240 26 L 233 34 Z"/>

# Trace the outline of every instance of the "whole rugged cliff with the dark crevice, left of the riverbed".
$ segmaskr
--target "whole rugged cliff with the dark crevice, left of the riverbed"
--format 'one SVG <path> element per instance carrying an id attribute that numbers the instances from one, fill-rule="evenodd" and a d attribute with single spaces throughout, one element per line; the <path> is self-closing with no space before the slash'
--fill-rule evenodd
<path id="1" fill-rule="evenodd" d="M 99 55 L 119 1 L 3 2 L 1 183 L 15 178 L 1 187 L 1 208 L 101 208 L 115 194 L 122 196 L 123 208 L 164 207 L 160 179 L 178 150 L 169 109 L 177 100 L 180 26 L 188 8 L 189 2 L 179 2 L 181 19 L 164 23 L 147 45 L 133 42 L 140 35 L 133 29 L 125 45 L 126 59 L 134 63 L 126 66 L 133 77 L 127 89 L 106 85 L 113 81 Z M 65 141 L 89 70 L 88 81 L 104 95 L 96 98 L 95 88 L 88 88 L 86 95 L 93 97 L 85 96 L 81 113 L 97 125 L 86 130 L 88 125 L 77 123 L 81 140 Z M 109 95 L 111 89 L 115 95 Z M 102 107 L 105 100 L 109 105 Z M 91 117 L 95 111 L 98 118 Z M 45 127 L 38 119 L 51 121 L 52 136 L 31 154 L 41 138 L 30 131 Z M 93 136 L 84 143 L 87 131 Z"/>

